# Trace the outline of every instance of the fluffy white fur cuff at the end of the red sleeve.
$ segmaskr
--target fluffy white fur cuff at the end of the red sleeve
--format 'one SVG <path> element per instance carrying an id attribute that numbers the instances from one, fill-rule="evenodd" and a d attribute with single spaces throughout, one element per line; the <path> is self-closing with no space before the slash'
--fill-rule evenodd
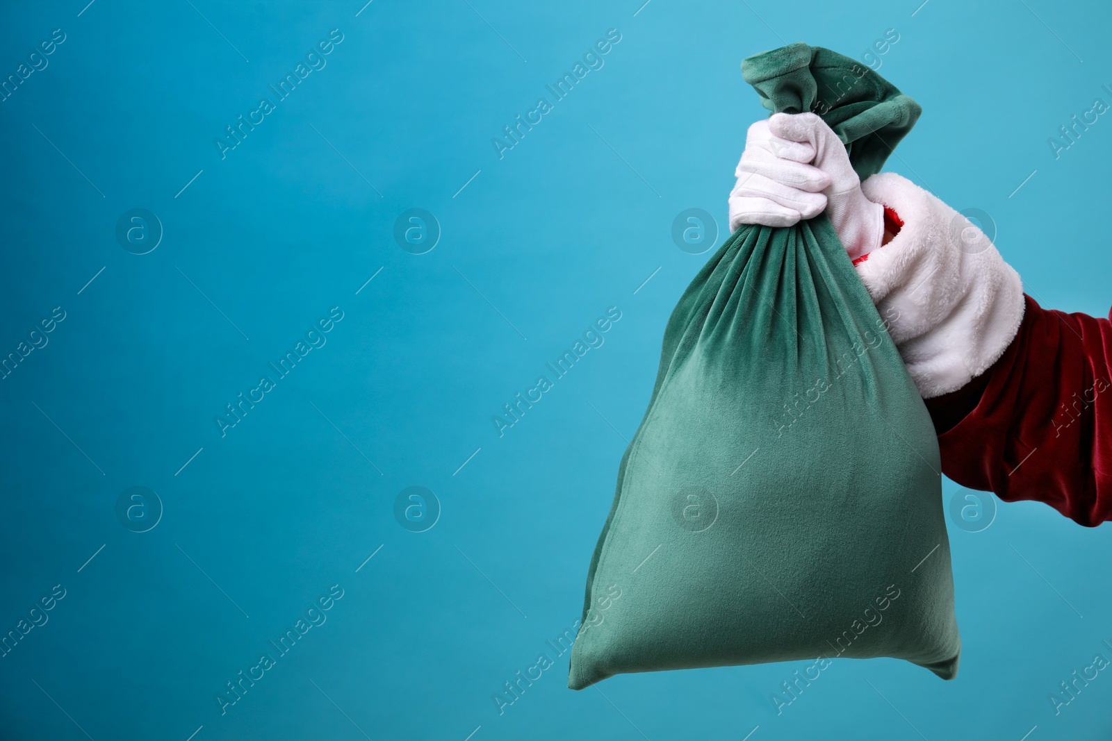
<path id="1" fill-rule="evenodd" d="M 1023 282 L 980 229 L 905 178 L 883 172 L 862 189 L 904 226 L 857 274 L 923 398 L 956 391 L 1015 338 Z"/>

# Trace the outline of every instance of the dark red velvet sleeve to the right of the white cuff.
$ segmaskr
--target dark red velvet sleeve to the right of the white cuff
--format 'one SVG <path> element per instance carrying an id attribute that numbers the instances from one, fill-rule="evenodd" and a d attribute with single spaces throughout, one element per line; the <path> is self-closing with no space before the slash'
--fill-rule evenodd
<path id="1" fill-rule="evenodd" d="M 1112 520 L 1112 314 L 1049 311 L 1024 299 L 1023 322 L 1000 360 L 926 400 L 942 471 L 1095 527 Z"/>

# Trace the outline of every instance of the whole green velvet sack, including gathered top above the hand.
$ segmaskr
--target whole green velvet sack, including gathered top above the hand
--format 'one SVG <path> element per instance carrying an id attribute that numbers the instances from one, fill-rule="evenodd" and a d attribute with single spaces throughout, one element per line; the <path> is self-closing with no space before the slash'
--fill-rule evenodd
<path id="1" fill-rule="evenodd" d="M 751 57 L 862 179 L 915 101 L 852 59 Z M 883 249 L 883 248 L 882 248 Z M 894 657 L 957 671 L 934 427 L 825 214 L 745 226 L 679 299 L 590 560 L 568 687 L 623 672 Z"/>

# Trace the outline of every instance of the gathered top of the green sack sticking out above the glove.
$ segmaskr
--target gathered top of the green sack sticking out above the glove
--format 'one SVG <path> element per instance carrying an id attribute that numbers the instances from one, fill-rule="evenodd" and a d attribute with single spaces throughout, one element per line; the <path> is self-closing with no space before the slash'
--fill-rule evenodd
<path id="1" fill-rule="evenodd" d="M 876 174 L 923 109 L 850 57 L 792 43 L 746 57 L 742 77 L 773 113 L 816 113 L 845 144 L 857 177 Z"/>

